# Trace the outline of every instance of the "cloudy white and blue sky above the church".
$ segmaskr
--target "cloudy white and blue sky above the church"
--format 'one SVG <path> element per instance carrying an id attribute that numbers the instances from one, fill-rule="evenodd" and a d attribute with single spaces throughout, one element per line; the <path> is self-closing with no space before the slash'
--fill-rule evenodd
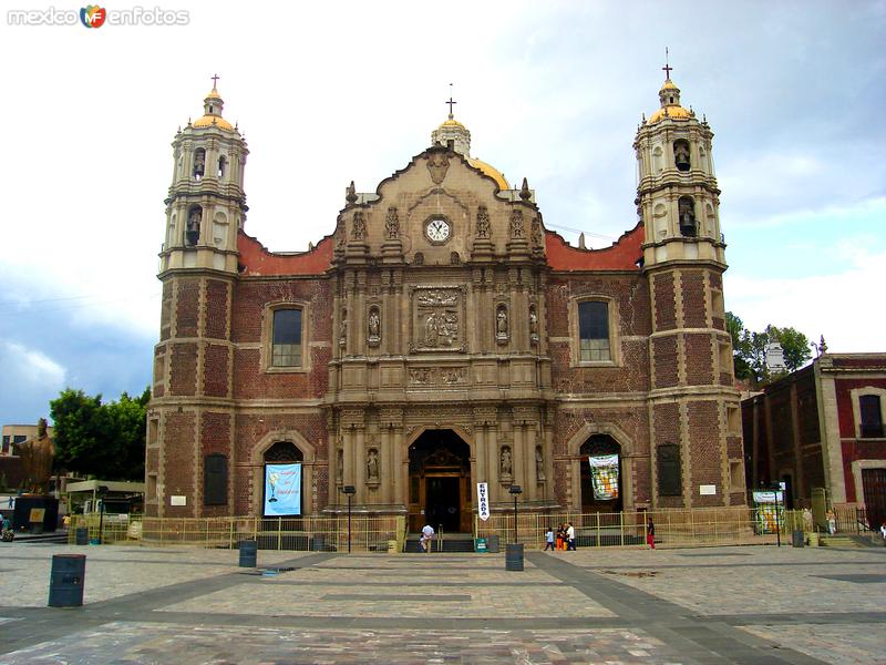
<path id="1" fill-rule="evenodd" d="M 349 181 L 374 191 L 421 152 L 451 82 L 473 156 L 601 247 L 636 221 L 631 142 L 668 47 L 715 132 L 727 308 L 886 350 L 884 2 L 156 4 L 187 24 L 9 24 L 51 2 L 0 16 L 2 423 L 47 416 L 66 386 L 147 386 L 169 143 L 213 73 L 251 151 L 246 229 L 274 250 L 331 233 Z"/>

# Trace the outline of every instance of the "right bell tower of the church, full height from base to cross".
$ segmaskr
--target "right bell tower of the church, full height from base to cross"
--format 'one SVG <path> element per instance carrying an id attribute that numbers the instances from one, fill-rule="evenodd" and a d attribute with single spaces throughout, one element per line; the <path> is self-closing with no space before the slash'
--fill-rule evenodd
<path id="1" fill-rule="evenodd" d="M 651 494 L 656 508 L 744 504 L 713 132 L 681 105 L 671 68 L 662 69 L 660 108 L 633 142 L 652 309 Z"/>

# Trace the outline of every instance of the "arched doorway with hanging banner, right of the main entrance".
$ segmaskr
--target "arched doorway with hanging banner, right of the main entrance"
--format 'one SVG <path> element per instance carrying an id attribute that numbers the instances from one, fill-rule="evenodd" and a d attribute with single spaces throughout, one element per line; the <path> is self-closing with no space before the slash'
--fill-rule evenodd
<path id="1" fill-rule="evenodd" d="M 609 434 L 594 434 L 581 444 L 579 454 L 581 512 L 621 512 L 625 487 L 621 446 Z"/>

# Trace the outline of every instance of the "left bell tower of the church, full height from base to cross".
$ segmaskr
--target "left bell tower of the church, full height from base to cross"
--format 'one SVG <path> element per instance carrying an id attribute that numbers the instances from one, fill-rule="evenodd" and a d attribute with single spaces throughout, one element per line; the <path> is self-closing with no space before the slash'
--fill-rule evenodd
<path id="1" fill-rule="evenodd" d="M 248 150 L 213 76 L 204 114 L 175 134 L 159 254 L 159 341 L 147 418 L 145 514 L 233 514 L 231 300 Z"/>

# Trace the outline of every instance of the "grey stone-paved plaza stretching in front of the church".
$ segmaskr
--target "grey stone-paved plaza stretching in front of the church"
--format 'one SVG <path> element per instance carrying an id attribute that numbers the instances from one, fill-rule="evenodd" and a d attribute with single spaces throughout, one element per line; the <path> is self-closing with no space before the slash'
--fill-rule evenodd
<path id="1" fill-rule="evenodd" d="M 85 553 L 83 607 L 47 606 Z M 886 663 L 886 549 L 258 553 L 3 543 L 0 663 Z"/>

